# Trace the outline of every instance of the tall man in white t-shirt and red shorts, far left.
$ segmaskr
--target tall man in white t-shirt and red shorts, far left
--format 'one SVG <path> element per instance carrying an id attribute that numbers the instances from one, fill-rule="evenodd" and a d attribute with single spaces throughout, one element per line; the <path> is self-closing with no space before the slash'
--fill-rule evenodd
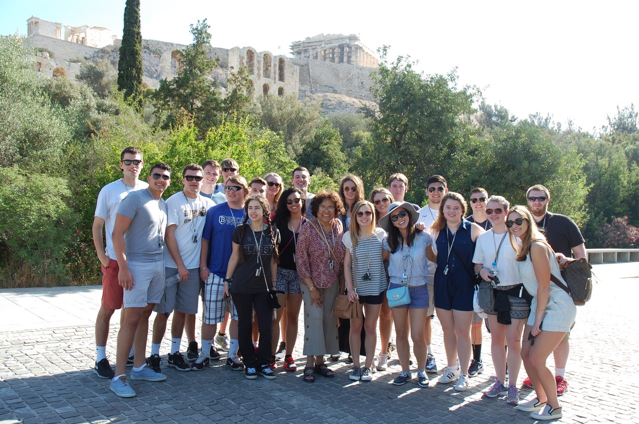
<path id="1" fill-rule="evenodd" d="M 118 205 L 127 194 L 144 190 L 148 183 L 139 180 L 144 162 L 142 152 L 137 147 L 127 147 L 120 154 L 120 170 L 122 178 L 102 187 L 98 194 L 93 218 L 93 245 L 98 254 L 102 267 L 102 305 L 95 319 L 95 350 L 96 360 L 93 372 L 102 378 L 113 378 L 114 372 L 109 365 L 106 355 L 107 338 L 109 337 L 109 322 L 116 309 L 122 307 L 123 289 L 118 282 L 118 261 L 113 251 L 111 235 L 116 221 Z M 106 245 L 102 236 L 102 229 L 106 230 Z M 105 249 L 106 247 L 106 249 Z M 120 318 L 124 317 L 121 314 Z M 130 356 L 133 356 L 131 353 Z"/>

